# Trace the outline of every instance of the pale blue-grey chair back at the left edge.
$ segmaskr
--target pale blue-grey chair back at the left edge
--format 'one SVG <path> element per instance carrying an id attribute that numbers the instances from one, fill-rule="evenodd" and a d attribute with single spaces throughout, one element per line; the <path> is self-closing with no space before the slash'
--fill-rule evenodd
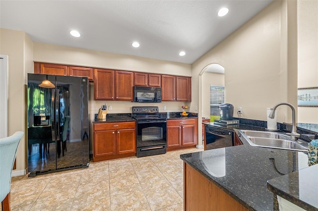
<path id="1" fill-rule="evenodd" d="M 12 136 L 0 139 L 0 202 L 10 192 L 14 159 L 23 134 L 17 131 Z"/>

